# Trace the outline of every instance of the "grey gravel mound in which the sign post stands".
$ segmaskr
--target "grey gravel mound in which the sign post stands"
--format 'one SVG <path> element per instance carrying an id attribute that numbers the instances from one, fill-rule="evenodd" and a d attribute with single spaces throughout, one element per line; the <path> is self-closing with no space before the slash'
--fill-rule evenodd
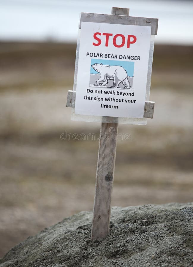
<path id="1" fill-rule="evenodd" d="M 193 203 L 113 207 L 110 233 L 91 241 L 80 212 L 13 247 L 0 267 L 193 266 Z"/>

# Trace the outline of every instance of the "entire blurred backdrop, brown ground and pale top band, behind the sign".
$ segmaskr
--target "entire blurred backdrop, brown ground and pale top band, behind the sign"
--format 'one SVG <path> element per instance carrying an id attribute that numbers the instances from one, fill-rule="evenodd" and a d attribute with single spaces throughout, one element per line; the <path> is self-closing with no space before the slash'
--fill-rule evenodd
<path id="1" fill-rule="evenodd" d="M 71 121 L 80 12 L 159 18 L 148 124 L 119 125 L 112 205 L 189 202 L 192 182 L 192 1 L 0 2 L 0 257 L 64 217 L 92 210 L 99 123 Z"/>

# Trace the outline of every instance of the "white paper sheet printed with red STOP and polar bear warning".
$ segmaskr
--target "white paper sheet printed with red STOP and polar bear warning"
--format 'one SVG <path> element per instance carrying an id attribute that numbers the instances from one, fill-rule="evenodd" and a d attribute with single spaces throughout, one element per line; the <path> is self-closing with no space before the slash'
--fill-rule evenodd
<path id="1" fill-rule="evenodd" d="M 75 114 L 143 118 L 151 27 L 82 22 Z"/>

